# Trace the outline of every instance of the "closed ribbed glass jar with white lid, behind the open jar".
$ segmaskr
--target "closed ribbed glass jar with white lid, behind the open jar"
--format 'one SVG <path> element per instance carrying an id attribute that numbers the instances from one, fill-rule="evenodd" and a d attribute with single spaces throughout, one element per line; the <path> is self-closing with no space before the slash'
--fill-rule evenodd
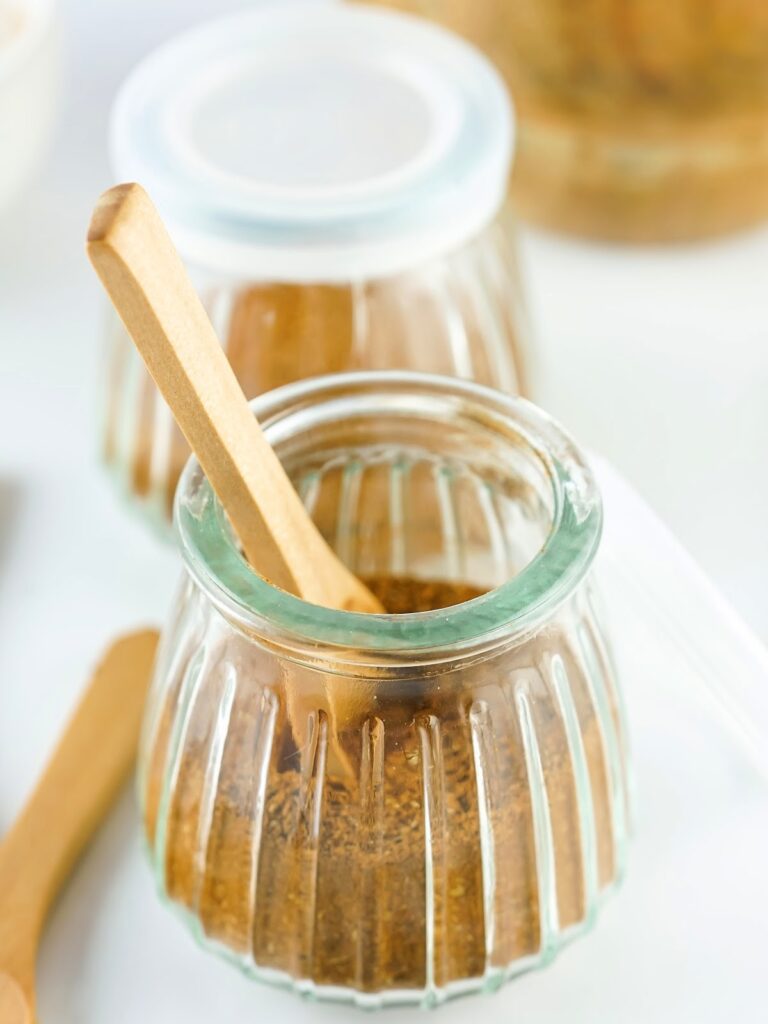
<path id="1" fill-rule="evenodd" d="M 385 369 L 516 393 L 512 135 L 501 79 L 461 40 L 378 9 L 273 5 L 147 57 L 116 101 L 112 150 L 158 205 L 249 397 Z M 106 462 L 164 521 L 186 444 L 117 322 L 109 364 Z"/>

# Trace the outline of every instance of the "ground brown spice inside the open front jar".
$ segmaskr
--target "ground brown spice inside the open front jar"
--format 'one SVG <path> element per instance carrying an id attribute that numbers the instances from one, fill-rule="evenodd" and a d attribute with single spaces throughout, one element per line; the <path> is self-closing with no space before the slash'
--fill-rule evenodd
<path id="1" fill-rule="evenodd" d="M 481 593 L 467 584 L 366 582 L 391 613 Z M 615 876 L 605 755 L 589 695 L 574 667 L 566 668 L 602 888 Z M 355 768 L 343 776 L 322 754 L 327 721 L 317 720 L 306 748 L 297 750 L 285 701 L 236 694 L 215 793 L 211 743 L 191 718 L 173 791 L 163 797 L 174 711 L 166 709 L 148 760 L 146 829 L 154 843 L 164 818 L 166 892 L 196 915 L 208 939 L 260 970 L 369 992 L 443 986 L 482 976 L 488 962 L 503 968 L 539 951 L 537 850 L 519 723 L 502 707 L 499 688 L 476 672 L 471 681 L 437 675 L 416 697 L 413 685 L 413 677 L 388 679 L 361 728 L 340 736 Z M 565 928 L 587 911 L 575 780 L 562 721 L 544 701 L 535 707 Z M 485 752 L 493 768 L 481 798 L 483 716 L 508 727 L 494 733 Z M 254 752 L 266 720 L 274 722 L 274 742 L 260 766 Z M 493 836 L 490 896 L 483 829 Z"/>

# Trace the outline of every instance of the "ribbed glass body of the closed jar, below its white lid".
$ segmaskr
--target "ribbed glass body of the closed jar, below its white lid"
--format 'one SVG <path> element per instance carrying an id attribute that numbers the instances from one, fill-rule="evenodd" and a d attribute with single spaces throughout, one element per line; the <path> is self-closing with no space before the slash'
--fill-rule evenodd
<path id="1" fill-rule="evenodd" d="M 195 280 L 249 398 L 352 370 L 447 374 L 528 393 L 527 321 L 509 213 L 458 250 L 388 278 L 233 282 L 197 270 Z M 121 492 L 162 524 L 188 447 L 114 316 L 106 345 L 104 460 Z"/>

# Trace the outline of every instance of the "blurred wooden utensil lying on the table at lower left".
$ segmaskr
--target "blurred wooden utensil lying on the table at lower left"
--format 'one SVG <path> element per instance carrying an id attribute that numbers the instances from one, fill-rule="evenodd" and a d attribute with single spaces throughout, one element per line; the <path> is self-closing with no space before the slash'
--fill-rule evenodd
<path id="1" fill-rule="evenodd" d="M 110 647 L 0 844 L 0 1024 L 35 1019 L 45 918 L 133 763 L 157 641 L 147 630 Z"/>

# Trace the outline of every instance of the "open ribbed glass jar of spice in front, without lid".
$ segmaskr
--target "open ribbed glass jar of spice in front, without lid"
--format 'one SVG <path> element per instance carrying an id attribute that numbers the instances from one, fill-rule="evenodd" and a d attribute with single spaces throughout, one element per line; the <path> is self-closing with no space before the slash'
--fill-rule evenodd
<path id="1" fill-rule="evenodd" d="M 494 989 L 588 930 L 624 870 L 592 474 L 535 407 L 449 378 L 340 375 L 253 408 L 382 596 L 480 596 L 365 615 L 274 589 L 190 460 L 139 766 L 159 890 L 205 946 L 313 997 Z"/>

